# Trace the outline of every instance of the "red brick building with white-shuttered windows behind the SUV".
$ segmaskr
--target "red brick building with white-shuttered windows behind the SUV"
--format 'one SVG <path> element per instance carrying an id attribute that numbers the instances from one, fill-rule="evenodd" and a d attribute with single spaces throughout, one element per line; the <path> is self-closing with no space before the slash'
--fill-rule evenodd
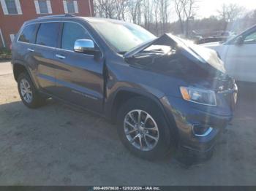
<path id="1" fill-rule="evenodd" d="M 9 47 L 26 20 L 61 14 L 90 17 L 93 13 L 93 0 L 0 0 L 0 47 Z"/>

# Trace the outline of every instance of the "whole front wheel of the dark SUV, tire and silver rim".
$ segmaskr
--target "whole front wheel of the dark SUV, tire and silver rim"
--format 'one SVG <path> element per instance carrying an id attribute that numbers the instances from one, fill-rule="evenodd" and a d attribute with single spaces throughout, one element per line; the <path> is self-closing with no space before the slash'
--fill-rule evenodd
<path id="1" fill-rule="evenodd" d="M 136 112 L 140 112 L 141 121 L 144 122 L 144 125 L 142 124 L 144 127 L 144 132 L 141 132 L 143 131 L 143 127 L 141 127 L 141 125 L 135 125 L 136 122 L 138 122 L 138 115 L 136 115 Z M 146 116 L 148 117 L 147 120 Z M 127 121 L 131 123 L 133 127 L 127 124 Z M 155 128 L 156 125 L 157 128 Z M 134 127 L 138 131 L 132 132 Z M 146 132 L 149 135 L 154 136 L 154 139 L 146 136 L 147 133 L 145 132 L 145 129 L 150 128 L 151 130 L 146 130 Z M 158 133 L 156 132 L 157 129 Z M 152 101 L 149 101 L 143 97 L 131 98 L 129 101 L 121 105 L 117 114 L 117 130 L 118 136 L 120 137 L 124 146 L 127 147 L 127 149 L 132 152 L 132 154 L 146 160 L 157 160 L 165 157 L 173 150 L 175 145 L 173 143 L 174 139 L 172 139 L 170 136 L 170 128 L 167 125 L 162 111 L 156 104 L 152 104 Z M 129 132 L 132 133 L 129 134 Z M 135 138 L 138 133 L 140 135 Z M 136 140 L 131 142 L 134 138 Z M 142 141 L 140 141 L 140 139 Z M 155 139 L 157 139 L 157 141 Z M 146 141 L 149 142 L 149 144 L 146 144 Z M 141 147 L 140 143 L 143 147 Z M 149 145 L 149 147 L 147 145 Z"/>

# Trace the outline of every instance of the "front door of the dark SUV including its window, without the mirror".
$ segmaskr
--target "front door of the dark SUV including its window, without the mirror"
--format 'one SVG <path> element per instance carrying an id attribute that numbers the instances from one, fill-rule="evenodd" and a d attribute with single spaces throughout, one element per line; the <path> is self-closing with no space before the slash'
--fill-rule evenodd
<path id="1" fill-rule="evenodd" d="M 103 103 L 103 59 L 74 52 L 77 39 L 94 39 L 80 23 L 64 22 L 61 43 L 56 50 L 55 94 L 72 104 L 102 112 Z M 94 44 L 97 46 L 96 42 Z"/>

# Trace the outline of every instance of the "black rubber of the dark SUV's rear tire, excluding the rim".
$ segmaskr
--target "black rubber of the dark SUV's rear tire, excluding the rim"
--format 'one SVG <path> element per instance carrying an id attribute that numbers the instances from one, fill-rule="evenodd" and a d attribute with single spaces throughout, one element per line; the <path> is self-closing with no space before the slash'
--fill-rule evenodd
<path id="1" fill-rule="evenodd" d="M 25 79 L 26 82 L 29 83 L 30 86 L 30 90 L 31 90 L 31 101 L 26 101 L 25 98 L 23 98 L 23 95 L 21 93 L 21 89 L 20 89 L 20 83 L 21 81 Z M 27 107 L 31 108 L 31 109 L 36 109 L 39 106 L 43 106 L 45 104 L 45 100 L 46 98 L 43 98 L 39 92 L 37 91 L 36 87 L 34 87 L 34 83 L 31 81 L 29 74 L 26 72 L 21 73 L 18 76 L 18 92 L 20 94 L 20 98 L 23 101 L 23 104 L 25 104 Z"/>

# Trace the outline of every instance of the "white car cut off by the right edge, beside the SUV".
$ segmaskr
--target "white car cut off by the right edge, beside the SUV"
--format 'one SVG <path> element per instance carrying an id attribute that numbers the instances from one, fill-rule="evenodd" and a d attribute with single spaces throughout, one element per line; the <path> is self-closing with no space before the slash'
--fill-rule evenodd
<path id="1" fill-rule="evenodd" d="M 256 26 L 227 42 L 201 45 L 219 53 L 225 63 L 227 74 L 238 81 L 256 82 Z"/>

